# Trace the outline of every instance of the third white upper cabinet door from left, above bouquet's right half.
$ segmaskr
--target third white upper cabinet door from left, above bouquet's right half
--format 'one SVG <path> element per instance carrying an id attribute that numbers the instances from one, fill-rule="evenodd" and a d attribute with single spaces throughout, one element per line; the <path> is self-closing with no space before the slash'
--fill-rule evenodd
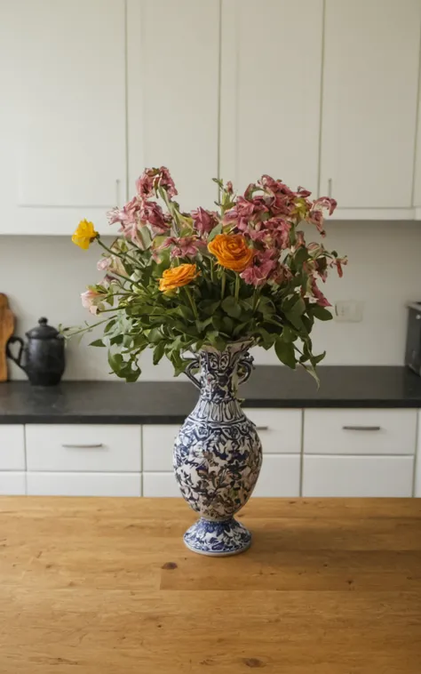
<path id="1" fill-rule="evenodd" d="M 221 177 L 317 190 L 322 0 L 222 0 Z"/>

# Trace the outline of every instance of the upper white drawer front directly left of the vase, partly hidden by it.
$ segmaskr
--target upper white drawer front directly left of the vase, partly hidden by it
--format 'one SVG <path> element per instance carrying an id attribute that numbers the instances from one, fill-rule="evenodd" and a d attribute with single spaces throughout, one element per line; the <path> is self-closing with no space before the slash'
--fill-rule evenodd
<path id="1" fill-rule="evenodd" d="M 145 424 L 142 427 L 144 470 L 172 470 L 172 448 L 179 429 L 177 424 Z"/>

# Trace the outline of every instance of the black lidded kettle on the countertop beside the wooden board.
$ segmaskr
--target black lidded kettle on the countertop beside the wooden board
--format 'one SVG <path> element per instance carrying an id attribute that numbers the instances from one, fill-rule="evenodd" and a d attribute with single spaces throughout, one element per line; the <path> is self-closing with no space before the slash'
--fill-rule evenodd
<path id="1" fill-rule="evenodd" d="M 55 386 L 64 373 L 64 337 L 55 327 L 48 325 L 47 318 L 40 318 L 37 327 L 28 330 L 28 343 L 20 337 L 11 337 L 7 342 L 6 353 L 16 365 L 28 374 L 34 386 Z M 18 341 L 20 349 L 15 357 L 10 349 Z"/>

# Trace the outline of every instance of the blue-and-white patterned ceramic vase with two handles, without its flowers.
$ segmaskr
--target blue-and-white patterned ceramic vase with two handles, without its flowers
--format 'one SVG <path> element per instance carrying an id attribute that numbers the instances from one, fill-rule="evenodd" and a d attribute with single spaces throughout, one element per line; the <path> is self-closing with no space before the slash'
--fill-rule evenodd
<path id="1" fill-rule="evenodd" d="M 238 385 L 250 377 L 251 341 L 225 351 L 204 347 L 187 366 L 200 397 L 174 446 L 181 493 L 200 518 L 184 535 L 187 548 L 211 557 L 247 550 L 250 531 L 234 514 L 250 499 L 262 463 L 256 426 L 243 413 Z M 200 379 L 192 372 L 200 367 Z"/>

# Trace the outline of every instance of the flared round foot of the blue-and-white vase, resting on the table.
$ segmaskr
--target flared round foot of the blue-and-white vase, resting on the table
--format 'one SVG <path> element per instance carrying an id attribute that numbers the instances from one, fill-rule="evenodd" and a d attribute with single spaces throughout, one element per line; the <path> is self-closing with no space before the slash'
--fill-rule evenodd
<path id="1" fill-rule="evenodd" d="M 236 519 L 214 522 L 200 518 L 184 534 L 189 550 L 208 557 L 239 555 L 250 548 L 250 531 Z"/>

